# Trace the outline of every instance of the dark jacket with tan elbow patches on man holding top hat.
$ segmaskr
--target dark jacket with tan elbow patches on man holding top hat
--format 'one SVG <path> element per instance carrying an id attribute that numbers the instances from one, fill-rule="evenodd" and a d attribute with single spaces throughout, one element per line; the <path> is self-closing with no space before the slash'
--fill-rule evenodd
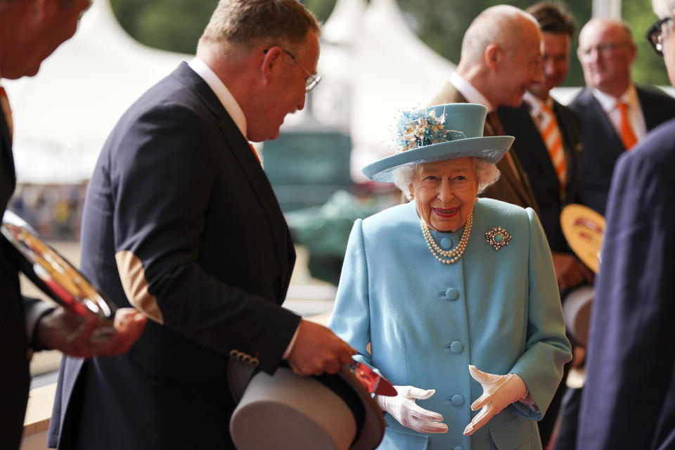
<path id="1" fill-rule="evenodd" d="M 124 356 L 63 360 L 50 445 L 233 448 L 229 354 L 276 370 L 300 323 L 279 306 L 295 251 L 248 141 L 185 63 L 122 116 L 91 178 L 81 269 L 122 307 L 120 255 L 163 323 Z"/>

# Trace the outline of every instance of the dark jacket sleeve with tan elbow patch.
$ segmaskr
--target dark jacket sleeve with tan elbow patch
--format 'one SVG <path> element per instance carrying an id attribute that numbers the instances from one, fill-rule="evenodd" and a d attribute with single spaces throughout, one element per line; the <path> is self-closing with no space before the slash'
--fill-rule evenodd
<path id="1" fill-rule="evenodd" d="M 198 261 L 203 245 L 228 248 L 200 239 L 213 207 L 212 189 L 217 177 L 225 176 L 214 153 L 232 151 L 208 120 L 212 117 L 184 105 L 162 105 L 130 120 L 123 133 L 114 135 L 120 137 L 112 138 L 119 140 L 109 165 L 117 269 L 130 302 L 155 321 L 221 354 L 238 349 L 255 356 L 263 370 L 274 371 L 300 317 L 274 303 L 283 299 L 226 285 Z M 237 205 L 238 191 L 244 189 L 248 186 L 231 187 L 228 220 L 243 221 L 249 214 L 245 207 L 261 207 Z M 223 233 L 218 239 L 231 236 Z M 260 236 L 254 231 L 250 240 L 237 243 L 250 254 L 224 252 L 223 264 L 274 258 L 274 249 L 257 247 Z"/>

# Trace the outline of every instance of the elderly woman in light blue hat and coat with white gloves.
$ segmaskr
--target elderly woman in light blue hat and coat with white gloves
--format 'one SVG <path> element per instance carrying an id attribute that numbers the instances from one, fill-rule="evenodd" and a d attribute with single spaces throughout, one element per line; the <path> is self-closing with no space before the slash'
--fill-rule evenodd
<path id="1" fill-rule="evenodd" d="M 399 153 L 364 168 L 411 202 L 354 224 L 329 326 L 378 369 L 380 449 L 541 449 L 571 359 L 551 252 L 531 209 L 477 198 L 511 136 L 487 110 L 405 113 Z"/>

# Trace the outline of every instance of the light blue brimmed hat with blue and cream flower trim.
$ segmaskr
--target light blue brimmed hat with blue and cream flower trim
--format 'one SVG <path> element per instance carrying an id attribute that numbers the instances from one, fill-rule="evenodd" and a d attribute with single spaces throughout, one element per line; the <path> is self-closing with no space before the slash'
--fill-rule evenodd
<path id="1" fill-rule="evenodd" d="M 361 172 L 374 181 L 392 182 L 397 167 L 475 156 L 499 162 L 513 136 L 483 137 L 487 108 L 449 103 L 403 113 L 397 123 L 399 152 L 377 160 Z"/>

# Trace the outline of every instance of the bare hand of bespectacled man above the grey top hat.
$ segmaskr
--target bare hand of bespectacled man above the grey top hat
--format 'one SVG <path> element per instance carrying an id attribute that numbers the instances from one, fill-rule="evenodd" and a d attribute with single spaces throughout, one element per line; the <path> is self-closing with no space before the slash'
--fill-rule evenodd
<path id="1" fill-rule="evenodd" d="M 352 362 L 353 354 L 356 350 L 329 328 L 303 319 L 286 361 L 298 375 L 321 375 L 337 373 L 340 364 Z"/>

